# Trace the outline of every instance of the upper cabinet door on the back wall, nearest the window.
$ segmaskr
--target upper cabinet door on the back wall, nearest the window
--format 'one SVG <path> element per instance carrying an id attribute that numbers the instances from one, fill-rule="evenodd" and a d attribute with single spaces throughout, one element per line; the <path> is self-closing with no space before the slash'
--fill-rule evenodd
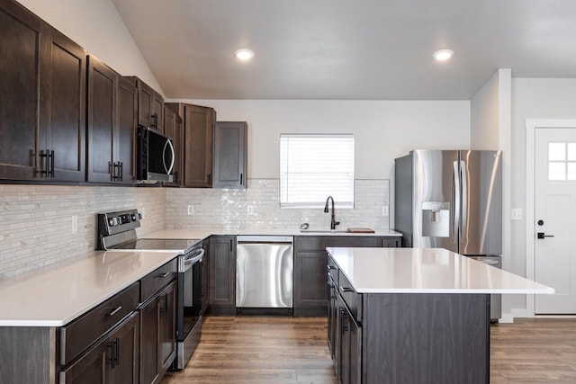
<path id="1" fill-rule="evenodd" d="M 218 121 L 214 131 L 214 188 L 246 188 L 247 123 Z"/>

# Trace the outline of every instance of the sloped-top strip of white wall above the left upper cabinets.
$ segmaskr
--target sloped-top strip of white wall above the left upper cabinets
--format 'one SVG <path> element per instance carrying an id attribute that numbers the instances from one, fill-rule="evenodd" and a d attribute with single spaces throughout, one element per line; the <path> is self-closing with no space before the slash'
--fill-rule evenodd
<path id="1" fill-rule="evenodd" d="M 162 93 L 156 77 L 110 0 L 18 0 L 40 19 L 123 76 L 139 76 Z"/>

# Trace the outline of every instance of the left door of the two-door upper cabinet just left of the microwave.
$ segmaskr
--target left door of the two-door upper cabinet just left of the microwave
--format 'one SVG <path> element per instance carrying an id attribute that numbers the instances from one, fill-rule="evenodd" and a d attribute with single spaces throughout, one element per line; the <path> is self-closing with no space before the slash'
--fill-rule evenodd
<path id="1" fill-rule="evenodd" d="M 114 161 L 118 74 L 88 58 L 88 182 L 111 183 L 120 168 Z"/>

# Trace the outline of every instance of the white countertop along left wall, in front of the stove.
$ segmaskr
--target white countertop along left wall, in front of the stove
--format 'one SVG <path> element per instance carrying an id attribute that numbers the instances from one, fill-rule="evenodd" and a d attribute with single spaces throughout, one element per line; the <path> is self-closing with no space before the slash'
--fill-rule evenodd
<path id="1" fill-rule="evenodd" d="M 103 252 L 0 283 L 0 326 L 64 326 L 175 258 L 174 252 Z"/>

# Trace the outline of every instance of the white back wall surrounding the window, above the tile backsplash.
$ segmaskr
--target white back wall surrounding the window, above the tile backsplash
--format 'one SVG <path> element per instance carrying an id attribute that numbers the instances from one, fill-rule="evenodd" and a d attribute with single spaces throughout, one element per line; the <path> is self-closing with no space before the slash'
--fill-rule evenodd
<path id="1" fill-rule="evenodd" d="M 280 177 L 281 133 L 354 133 L 356 179 L 393 179 L 394 158 L 414 148 L 470 147 L 468 101 L 180 102 L 213 107 L 219 121 L 247 121 L 249 178 Z"/>

